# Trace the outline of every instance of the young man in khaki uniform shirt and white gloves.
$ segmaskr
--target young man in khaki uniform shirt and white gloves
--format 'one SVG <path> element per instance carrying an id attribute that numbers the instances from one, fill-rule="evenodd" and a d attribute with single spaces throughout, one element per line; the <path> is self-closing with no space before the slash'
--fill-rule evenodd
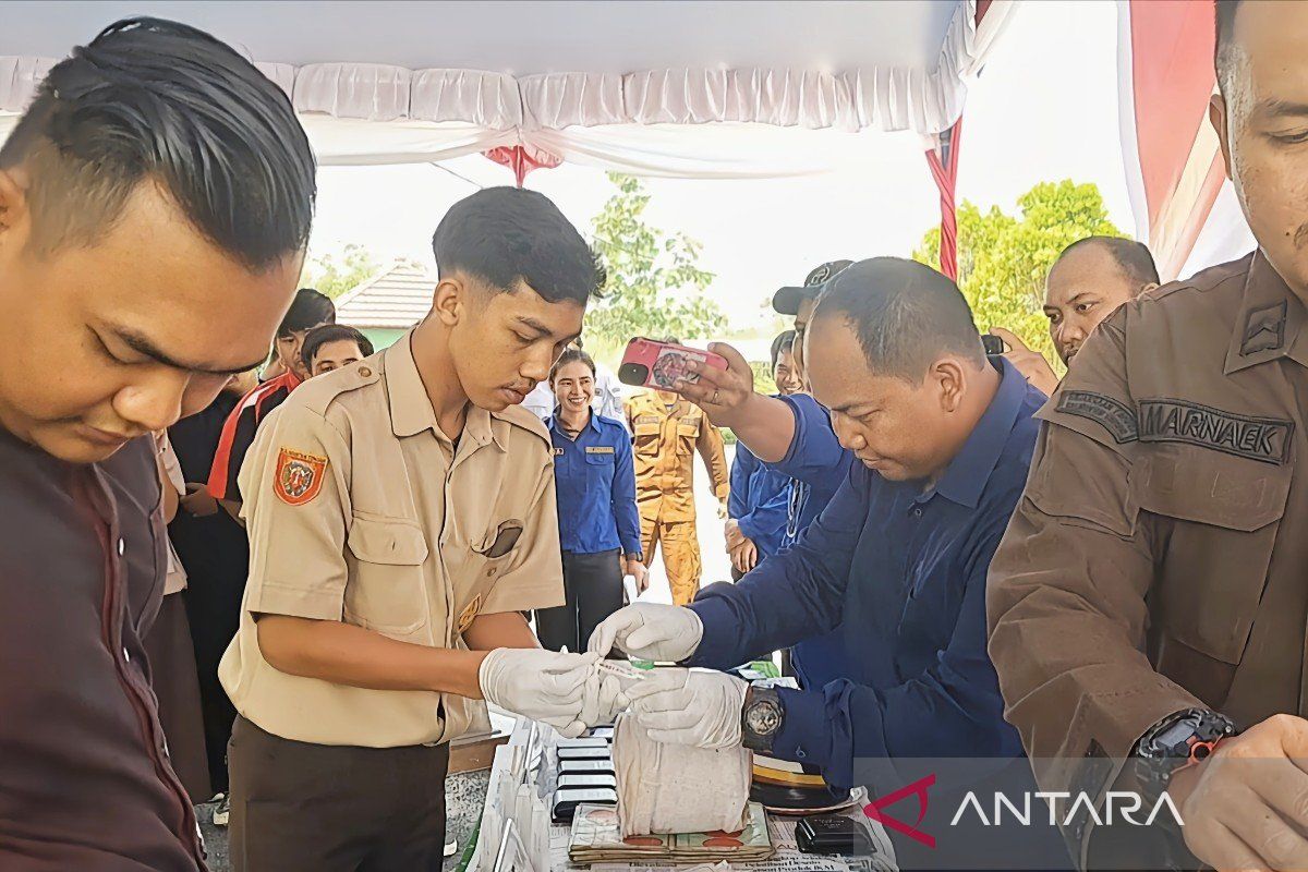
<path id="1" fill-rule="evenodd" d="M 603 284 L 555 205 L 490 188 L 433 239 L 432 312 L 311 379 L 241 473 L 250 580 L 222 660 L 232 858 L 246 872 L 434 869 L 449 743 L 494 702 L 577 735 L 594 655 L 538 647 L 564 601 L 544 426 L 517 404 Z"/>

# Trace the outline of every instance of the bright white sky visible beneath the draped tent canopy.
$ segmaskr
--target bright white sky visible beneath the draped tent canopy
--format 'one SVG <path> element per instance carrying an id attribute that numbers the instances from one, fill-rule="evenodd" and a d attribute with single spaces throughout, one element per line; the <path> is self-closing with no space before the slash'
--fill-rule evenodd
<path id="1" fill-rule="evenodd" d="M 1134 231 L 1117 122 L 1117 9 L 1112 0 L 1018 4 L 967 98 L 959 199 L 1015 210 L 1044 180 L 1099 184 L 1109 217 Z M 866 158 L 823 175 L 766 180 L 647 179 L 649 224 L 704 244 L 717 275 L 708 293 L 734 329 L 772 322 L 772 292 L 840 258 L 906 256 L 939 222 L 939 200 L 912 133 L 858 135 Z M 368 248 L 379 261 L 432 263 L 430 235 L 477 186 L 511 184 L 481 156 L 441 166 L 323 167 L 310 248 Z M 583 231 L 612 192 L 600 170 L 538 170 L 548 195 Z"/>

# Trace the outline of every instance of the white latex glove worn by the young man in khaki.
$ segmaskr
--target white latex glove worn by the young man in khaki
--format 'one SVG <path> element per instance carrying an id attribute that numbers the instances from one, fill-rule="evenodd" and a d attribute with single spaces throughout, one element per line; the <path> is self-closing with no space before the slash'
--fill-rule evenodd
<path id="1" fill-rule="evenodd" d="M 598 662 L 595 654 L 496 648 L 481 662 L 477 682 L 487 702 L 547 723 L 568 739 L 576 739 L 586 731 L 582 715 L 600 714 Z M 587 702 L 590 711 L 586 711 Z"/>

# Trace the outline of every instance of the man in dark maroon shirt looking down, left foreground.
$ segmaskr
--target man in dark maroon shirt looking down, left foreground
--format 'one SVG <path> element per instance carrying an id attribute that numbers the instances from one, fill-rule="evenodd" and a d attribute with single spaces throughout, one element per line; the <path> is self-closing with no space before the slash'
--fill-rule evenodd
<path id="1" fill-rule="evenodd" d="M 141 647 L 166 569 L 149 434 L 267 353 L 314 190 L 286 95 L 152 18 L 56 64 L 0 146 L 5 872 L 204 867 Z"/>

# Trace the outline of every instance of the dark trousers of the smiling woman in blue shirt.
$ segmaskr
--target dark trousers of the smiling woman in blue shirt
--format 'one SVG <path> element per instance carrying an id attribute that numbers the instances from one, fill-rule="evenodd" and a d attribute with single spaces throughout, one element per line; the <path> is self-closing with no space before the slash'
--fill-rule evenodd
<path id="1" fill-rule="evenodd" d="M 536 638 L 552 651 L 586 650 L 590 634 L 600 622 L 623 608 L 623 567 L 619 552 L 577 554 L 564 552 L 562 605 L 536 609 Z"/>

